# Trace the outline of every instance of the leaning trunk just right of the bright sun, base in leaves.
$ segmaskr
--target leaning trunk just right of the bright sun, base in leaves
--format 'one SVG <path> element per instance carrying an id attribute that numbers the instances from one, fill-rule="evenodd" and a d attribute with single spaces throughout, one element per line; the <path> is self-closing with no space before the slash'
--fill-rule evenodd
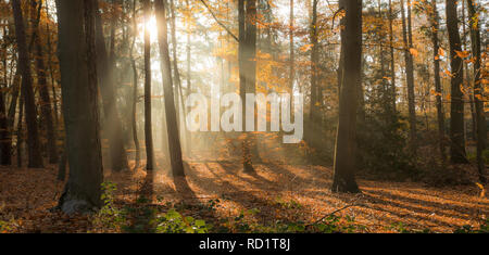
<path id="1" fill-rule="evenodd" d="M 161 73 L 163 75 L 163 93 L 165 103 L 166 135 L 170 151 L 170 164 L 173 176 L 185 176 L 181 161 L 180 137 L 178 133 L 177 116 L 175 111 L 175 97 L 172 81 L 172 68 L 168 51 L 168 31 L 166 23 L 166 3 L 156 0 L 158 41 L 160 46 Z M 164 136 L 163 135 L 163 136 Z"/>

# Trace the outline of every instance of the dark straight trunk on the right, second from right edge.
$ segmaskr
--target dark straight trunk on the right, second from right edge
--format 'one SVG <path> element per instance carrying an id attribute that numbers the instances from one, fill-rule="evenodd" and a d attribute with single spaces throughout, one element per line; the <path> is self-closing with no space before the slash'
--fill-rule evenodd
<path id="1" fill-rule="evenodd" d="M 459 17 L 456 2 L 446 1 L 447 28 L 450 42 L 450 69 L 451 69 L 451 103 L 450 103 L 450 156 L 454 164 L 465 164 L 465 137 L 464 137 L 464 100 L 461 86 L 463 85 L 462 59 L 456 52 L 462 52 L 459 34 Z"/>

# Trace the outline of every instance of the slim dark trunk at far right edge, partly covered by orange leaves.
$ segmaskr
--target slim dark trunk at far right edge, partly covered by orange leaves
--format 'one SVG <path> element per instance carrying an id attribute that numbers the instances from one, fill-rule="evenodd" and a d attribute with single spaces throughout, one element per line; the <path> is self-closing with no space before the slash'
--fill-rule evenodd
<path id="1" fill-rule="evenodd" d="M 468 15 L 471 20 L 471 42 L 474 62 L 474 98 L 477 116 L 477 169 L 479 170 L 479 179 L 482 183 L 487 182 L 485 176 L 486 165 L 484 163 L 482 151 L 486 150 L 487 127 L 486 116 L 484 113 L 484 88 L 481 80 L 481 54 L 480 54 L 480 30 L 479 16 L 473 0 L 467 0 Z"/>

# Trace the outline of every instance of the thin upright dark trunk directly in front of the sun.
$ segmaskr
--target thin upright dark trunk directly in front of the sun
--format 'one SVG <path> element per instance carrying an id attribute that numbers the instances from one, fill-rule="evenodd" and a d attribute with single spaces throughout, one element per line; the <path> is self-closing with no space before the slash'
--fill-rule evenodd
<path id="1" fill-rule="evenodd" d="M 153 135 L 151 127 L 151 42 L 148 30 L 148 21 L 151 16 L 151 2 L 142 2 L 145 9 L 145 143 L 146 143 L 146 169 L 153 169 Z"/>

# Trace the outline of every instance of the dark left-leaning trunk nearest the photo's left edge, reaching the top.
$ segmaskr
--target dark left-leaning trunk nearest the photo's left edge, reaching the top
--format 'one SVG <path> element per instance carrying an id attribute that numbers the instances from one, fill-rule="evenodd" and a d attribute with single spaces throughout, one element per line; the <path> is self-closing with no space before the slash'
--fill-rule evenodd
<path id="1" fill-rule="evenodd" d="M 41 168 L 39 131 L 37 129 L 37 114 L 34 101 L 33 76 L 29 67 L 29 53 L 26 44 L 24 17 L 20 0 L 12 0 L 15 23 L 15 38 L 17 41 L 18 66 L 22 75 L 22 97 L 25 104 L 25 119 L 27 124 L 28 167 Z"/>

